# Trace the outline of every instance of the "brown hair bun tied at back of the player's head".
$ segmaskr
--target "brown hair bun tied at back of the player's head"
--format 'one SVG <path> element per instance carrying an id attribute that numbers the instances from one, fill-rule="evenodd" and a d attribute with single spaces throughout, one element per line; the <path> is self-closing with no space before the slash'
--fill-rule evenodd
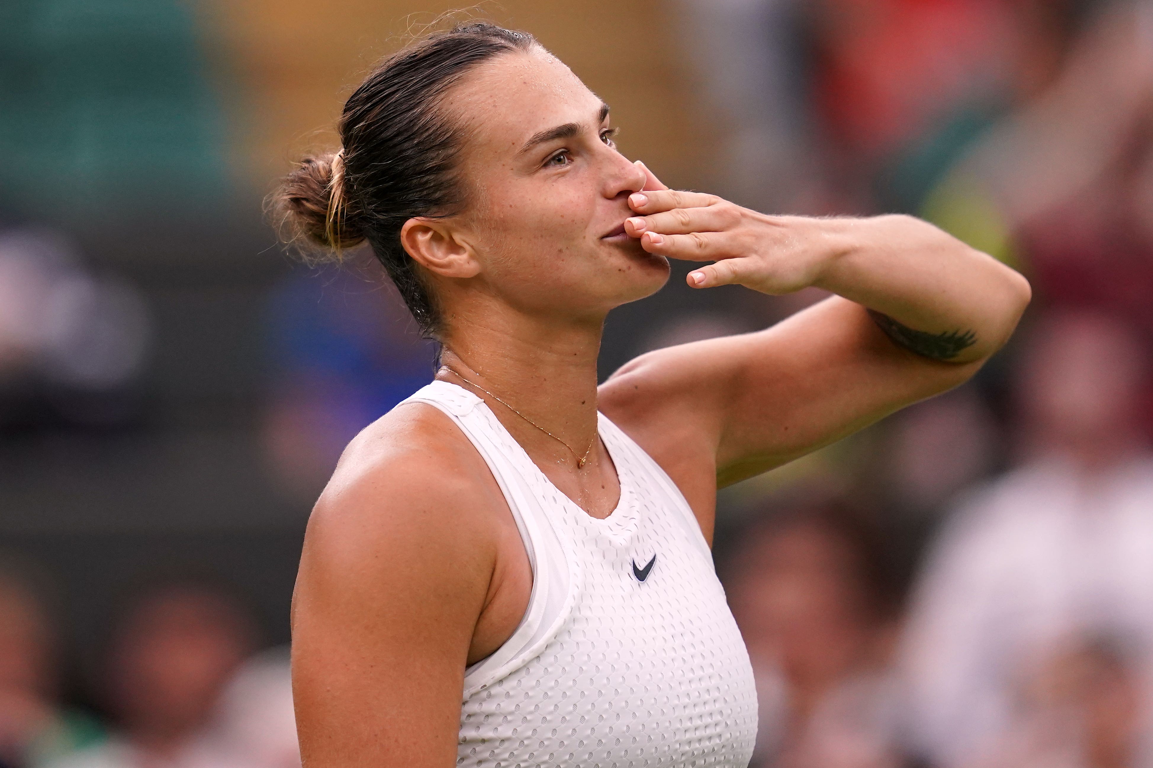
<path id="1" fill-rule="evenodd" d="M 287 242 L 341 251 L 364 242 L 357 212 L 344 186 L 342 153 L 306 156 L 272 195 Z"/>

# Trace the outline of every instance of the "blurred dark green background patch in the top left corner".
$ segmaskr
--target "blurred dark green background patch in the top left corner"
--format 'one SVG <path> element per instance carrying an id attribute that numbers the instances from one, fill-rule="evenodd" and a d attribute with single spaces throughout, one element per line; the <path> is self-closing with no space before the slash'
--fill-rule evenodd
<path id="1" fill-rule="evenodd" d="M 0 195 L 81 226 L 219 199 L 227 131 L 205 70 L 184 2 L 0 3 Z"/>

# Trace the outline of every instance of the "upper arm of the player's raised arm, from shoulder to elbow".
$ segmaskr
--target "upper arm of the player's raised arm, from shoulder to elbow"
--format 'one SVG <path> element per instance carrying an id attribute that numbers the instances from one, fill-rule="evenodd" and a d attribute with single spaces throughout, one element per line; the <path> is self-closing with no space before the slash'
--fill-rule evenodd
<path id="1" fill-rule="evenodd" d="M 678 483 L 699 484 L 704 470 L 726 485 L 955 386 L 977 368 L 902 349 L 860 304 L 834 296 L 764 331 L 642 355 L 602 394 L 605 413 Z"/>

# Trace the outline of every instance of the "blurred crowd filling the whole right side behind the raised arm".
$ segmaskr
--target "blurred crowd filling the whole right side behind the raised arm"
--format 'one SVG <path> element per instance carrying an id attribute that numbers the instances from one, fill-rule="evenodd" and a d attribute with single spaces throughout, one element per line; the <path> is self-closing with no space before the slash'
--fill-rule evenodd
<path id="1" fill-rule="evenodd" d="M 914 213 L 1037 296 L 977 381 L 741 499 L 755 765 L 1153 766 L 1153 3 L 686 7 L 731 195 Z"/>

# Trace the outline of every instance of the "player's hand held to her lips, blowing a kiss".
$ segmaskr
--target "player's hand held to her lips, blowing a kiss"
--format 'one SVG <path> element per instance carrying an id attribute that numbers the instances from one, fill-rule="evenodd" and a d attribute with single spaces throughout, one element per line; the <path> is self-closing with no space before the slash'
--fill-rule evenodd
<path id="1" fill-rule="evenodd" d="M 625 221 L 625 232 L 650 254 L 715 262 L 688 274 L 694 288 L 792 293 L 816 283 L 837 253 L 827 219 L 759 213 L 716 195 L 664 189 L 648 174 L 645 190 L 628 197 L 639 216 Z"/>

